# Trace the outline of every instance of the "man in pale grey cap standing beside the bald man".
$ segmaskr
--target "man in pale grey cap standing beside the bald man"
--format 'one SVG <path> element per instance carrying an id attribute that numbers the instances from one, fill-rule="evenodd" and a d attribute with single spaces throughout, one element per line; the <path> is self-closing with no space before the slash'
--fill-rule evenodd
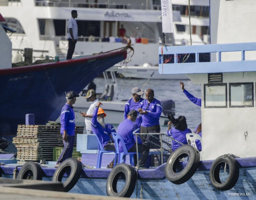
<path id="1" fill-rule="evenodd" d="M 131 110 L 135 110 L 140 102 L 142 102 L 144 99 L 141 98 L 141 95 L 143 94 L 144 92 L 141 91 L 140 88 L 138 87 L 134 87 L 132 88 L 132 98 L 130 98 L 126 103 L 125 103 L 125 107 L 124 107 L 124 120 L 127 119 L 127 115 L 128 113 L 131 111 Z M 135 124 L 138 125 L 139 129 L 140 129 L 140 125 L 142 123 L 142 115 L 138 113 L 137 115 L 137 118 L 136 118 L 136 121 L 135 121 Z"/>

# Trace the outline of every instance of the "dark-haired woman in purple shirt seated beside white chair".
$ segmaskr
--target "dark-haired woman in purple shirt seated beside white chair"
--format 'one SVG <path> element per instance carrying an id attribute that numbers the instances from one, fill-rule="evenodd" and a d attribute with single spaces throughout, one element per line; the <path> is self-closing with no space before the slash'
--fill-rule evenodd
<path id="1" fill-rule="evenodd" d="M 186 134 L 192 132 L 190 129 L 188 129 L 186 118 L 184 116 L 179 116 L 177 119 L 175 119 L 172 115 L 168 115 L 168 119 L 170 121 L 168 122 L 167 135 L 171 136 L 174 140 L 187 145 L 188 142 L 186 139 Z M 172 124 L 174 125 L 173 128 L 171 128 Z M 180 143 L 174 140 L 172 141 L 173 151 L 181 146 Z"/>

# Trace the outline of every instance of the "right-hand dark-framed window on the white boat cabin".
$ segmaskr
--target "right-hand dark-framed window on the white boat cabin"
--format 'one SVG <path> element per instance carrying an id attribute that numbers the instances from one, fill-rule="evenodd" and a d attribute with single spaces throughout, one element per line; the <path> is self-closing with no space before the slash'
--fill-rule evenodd
<path id="1" fill-rule="evenodd" d="M 253 83 L 230 83 L 229 107 L 253 107 Z"/>

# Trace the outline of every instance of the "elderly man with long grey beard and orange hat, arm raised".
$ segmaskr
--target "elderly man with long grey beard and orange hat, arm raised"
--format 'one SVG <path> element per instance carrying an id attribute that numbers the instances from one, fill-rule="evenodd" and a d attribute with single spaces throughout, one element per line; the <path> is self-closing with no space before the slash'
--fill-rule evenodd
<path id="1" fill-rule="evenodd" d="M 92 116 L 92 131 L 100 139 L 104 150 L 115 151 L 115 143 L 112 140 L 111 132 L 116 133 L 116 130 L 111 124 L 104 123 L 104 117 L 107 115 L 102 108 L 99 108 L 100 105 L 102 105 L 101 102 L 97 104 Z M 113 168 L 114 159 L 107 165 L 107 168 Z"/>

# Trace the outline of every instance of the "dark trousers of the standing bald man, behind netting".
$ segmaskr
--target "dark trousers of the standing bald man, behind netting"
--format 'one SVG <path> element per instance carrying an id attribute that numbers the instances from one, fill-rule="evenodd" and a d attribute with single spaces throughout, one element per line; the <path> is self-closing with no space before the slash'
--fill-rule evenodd
<path id="1" fill-rule="evenodd" d="M 150 127 L 140 126 L 140 128 L 140 133 L 160 133 L 160 125 Z M 142 138 L 142 141 L 149 143 L 150 149 L 160 149 L 159 135 L 147 135 L 146 139 L 145 137 Z"/>

